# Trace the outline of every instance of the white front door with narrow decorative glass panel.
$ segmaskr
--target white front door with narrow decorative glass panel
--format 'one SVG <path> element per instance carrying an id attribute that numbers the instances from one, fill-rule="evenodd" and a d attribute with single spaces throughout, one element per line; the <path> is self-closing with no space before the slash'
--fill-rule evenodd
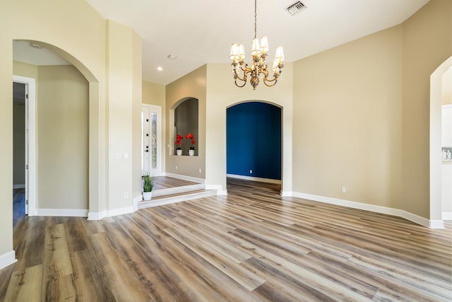
<path id="1" fill-rule="evenodd" d="M 162 108 L 141 106 L 141 170 L 151 176 L 161 174 Z"/>

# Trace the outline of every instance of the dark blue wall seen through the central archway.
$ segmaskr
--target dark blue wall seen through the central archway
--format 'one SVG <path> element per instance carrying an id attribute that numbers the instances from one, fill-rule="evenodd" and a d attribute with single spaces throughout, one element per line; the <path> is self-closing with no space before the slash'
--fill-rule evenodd
<path id="1" fill-rule="evenodd" d="M 227 174 L 280 180 L 281 108 L 261 102 L 227 108 L 226 144 Z"/>

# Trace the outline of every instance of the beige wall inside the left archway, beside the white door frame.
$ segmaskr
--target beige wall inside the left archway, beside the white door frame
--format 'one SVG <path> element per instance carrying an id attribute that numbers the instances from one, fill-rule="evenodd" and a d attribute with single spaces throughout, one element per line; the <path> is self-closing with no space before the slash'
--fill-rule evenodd
<path id="1" fill-rule="evenodd" d="M 37 209 L 88 209 L 88 81 L 38 66 Z"/>

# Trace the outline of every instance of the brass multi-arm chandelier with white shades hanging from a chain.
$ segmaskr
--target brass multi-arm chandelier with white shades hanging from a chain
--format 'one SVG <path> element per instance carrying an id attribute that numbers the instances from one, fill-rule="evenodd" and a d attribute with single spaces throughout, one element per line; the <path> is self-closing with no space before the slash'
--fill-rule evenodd
<path id="1" fill-rule="evenodd" d="M 276 48 L 275 59 L 273 61 L 273 79 L 268 79 L 268 66 L 266 64 L 266 57 L 268 52 L 267 37 L 261 37 L 261 41 L 257 38 L 257 0 L 254 0 L 254 39 L 251 41 L 251 56 L 253 62 L 251 66 L 244 63 L 245 51 L 242 44 L 232 44 L 230 59 L 232 59 L 232 72 L 234 74 L 234 83 L 237 87 L 243 87 L 246 84 L 247 76 L 251 79 L 249 82 L 256 89 L 259 84 L 259 78 L 263 79 L 266 86 L 275 86 L 278 77 L 283 69 L 284 52 L 283 47 Z M 237 83 L 237 80 L 239 83 Z"/>

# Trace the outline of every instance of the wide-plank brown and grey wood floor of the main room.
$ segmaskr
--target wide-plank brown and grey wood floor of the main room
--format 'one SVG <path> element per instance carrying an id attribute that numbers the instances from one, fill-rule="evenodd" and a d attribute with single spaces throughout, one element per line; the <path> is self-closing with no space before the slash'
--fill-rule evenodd
<path id="1" fill-rule="evenodd" d="M 228 196 L 101 221 L 25 217 L 0 301 L 451 301 L 452 223 L 280 197 Z"/>

